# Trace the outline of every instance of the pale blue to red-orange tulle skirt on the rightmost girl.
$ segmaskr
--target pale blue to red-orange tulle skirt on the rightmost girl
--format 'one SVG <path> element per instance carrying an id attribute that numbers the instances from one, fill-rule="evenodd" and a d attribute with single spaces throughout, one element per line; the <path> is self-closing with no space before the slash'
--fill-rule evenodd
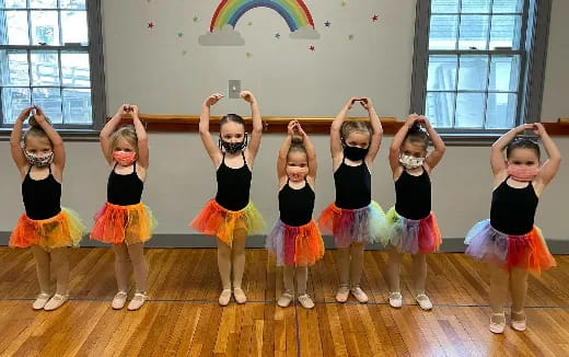
<path id="1" fill-rule="evenodd" d="M 468 231 L 464 243 L 468 245 L 466 254 L 507 270 L 515 267 L 539 274 L 556 266 L 542 230 L 536 226 L 526 234 L 510 235 L 497 231 L 490 220 L 485 219 Z"/>

